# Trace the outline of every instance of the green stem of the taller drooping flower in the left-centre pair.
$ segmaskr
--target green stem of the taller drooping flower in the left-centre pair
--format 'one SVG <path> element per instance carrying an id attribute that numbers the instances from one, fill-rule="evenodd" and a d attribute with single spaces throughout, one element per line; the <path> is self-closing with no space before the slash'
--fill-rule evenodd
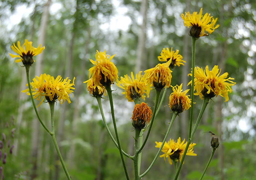
<path id="1" fill-rule="evenodd" d="M 120 144 L 120 140 L 119 140 L 119 136 L 118 136 L 118 132 L 117 132 L 117 127 L 116 127 L 116 119 L 115 119 L 115 113 L 114 113 L 114 105 L 113 105 L 111 85 L 108 85 L 105 88 L 108 92 L 108 98 L 109 98 L 110 108 L 111 108 L 111 115 L 112 115 L 114 130 L 115 130 L 115 133 L 116 133 L 116 141 L 117 141 L 119 153 L 120 153 L 122 163 L 123 163 L 123 166 L 124 166 L 124 172 L 125 172 L 126 179 L 129 180 L 129 175 L 128 175 L 127 168 L 126 168 L 126 165 L 125 165 L 125 162 L 124 162 L 124 156 L 123 156 L 123 153 L 122 153 L 122 148 L 121 148 L 121 144 Z"/>

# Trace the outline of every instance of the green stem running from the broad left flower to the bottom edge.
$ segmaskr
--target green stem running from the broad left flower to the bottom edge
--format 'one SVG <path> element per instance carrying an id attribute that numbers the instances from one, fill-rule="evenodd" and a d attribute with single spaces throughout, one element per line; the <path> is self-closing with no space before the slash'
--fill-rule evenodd
<path id="1" fill-rule="evenodd" d="M 71 177 L 69 176 L 68 170 L 67 170 L 67 168 L 65 166 L 65 163 L 63 161 L 63 158 L 62 158 L 62 156 L 60 154 L 60 149 L 58 147 L 58 144 L 57 144 L 57 141 L 56 141 L 56 137 L 55 137 L 55 130 L 54 130 L 54 103 L 55 103 L 55 101 L 49 101 L 50 110 L 51 110 L 51 125 L 52 125 L 52 134 L 51 135 L 52 135 L 52 140 L 53 140 L 54 146 L 56 148 L 57 154 L 58 154 L 58 156 L 60 158 L 60 162 L 62 164 L 62 167 L 63 167 L 63 169 L 65 171 L 65 174 L 66 174 L 68 180 L 71 180 Z"/>

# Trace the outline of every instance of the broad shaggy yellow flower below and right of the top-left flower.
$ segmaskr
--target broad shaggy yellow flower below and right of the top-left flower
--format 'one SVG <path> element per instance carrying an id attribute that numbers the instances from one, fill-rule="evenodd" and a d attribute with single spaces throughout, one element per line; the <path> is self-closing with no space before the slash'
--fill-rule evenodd
<path id="1" fill-rule="evenodd" d="M 36 78 L 33 79 L 33 82 L 31 82 L 32 95 L 34 96 L 34 99 L 37 98 L 37 100 L 40 100 L 41 96 L 43 96 L 47 101 L 59 100 L 60 104 L 62 104 L 67 100 L 68 103 L 71 103 L 68 94 L 74 92 L 70 90 L 75 89 L 74 87 L 71 87 L 75 86 L 74 81 L 75 77 L 73 79 L 73 83 L 70 84 L 70 79 L 68 78 L 62 79 L 60 76 L 58 76 L 56 79 L 54 79 L 54 77 L 50 75 L 41 74 L 40 77 L 36 76 Z M 28 86 L 28 84 L 26 86 Z M 30 95 L 29 89 L 21 92 Z M 42 104 L 44 98 L 38 106 Z"/>

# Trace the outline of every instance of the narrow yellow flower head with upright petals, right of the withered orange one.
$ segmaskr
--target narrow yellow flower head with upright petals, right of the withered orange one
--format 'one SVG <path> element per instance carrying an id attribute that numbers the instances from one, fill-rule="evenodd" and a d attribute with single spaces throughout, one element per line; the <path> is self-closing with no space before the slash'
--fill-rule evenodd
<path id="1" fill-rule="evenodd" d="M 187 110 L 191 107 L 191 99 L 186 95 L 189 89 L 182 92 L 182 84 L 180 86 L 171 86 L 173 93 L 169 97 L 169 106 L 172 111 L 176 111 L 177 113 L 181 113 L 184 110 Z"/>

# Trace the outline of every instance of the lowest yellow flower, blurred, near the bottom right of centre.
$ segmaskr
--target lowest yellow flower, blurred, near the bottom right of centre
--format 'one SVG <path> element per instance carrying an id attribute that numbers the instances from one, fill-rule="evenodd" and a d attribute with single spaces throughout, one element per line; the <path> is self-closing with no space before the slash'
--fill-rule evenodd
<path id="1" fill-rule="evenodd" d="M 163 146 L 163 149 L 162 149 L 162 152 L 164 152 L 164 154 L 160 155 L 160 157 L 164 157 L 164 160 L 166 162 L 166 157 L 168 157 L 168 160 L 169 160 L 169 163 L 172 164 L 172 160 L 174 161 L 178 161 L 178 159 L 181 160 L 182 158 L 182 155 L 184 154 L 184 150 L 187 146 L 187 143 L 184 143 L 185 142 L 185 139 L 180 142 L 180 138 L 178 139 L 177 143 L 170 139 L 170 141 L 167 142 L 164 142 L 164 146 Z M 155 147 L 158 147 L 160 148 L 161 145 L 162 145 L 162 142 L 155 142 L 156 143 L 156 146 Z M 195 146 L 196 144 L 195 143 L 191 143 L 189 146 L 188 146 L 188 151 L 187 151 L 187 154 L 188 156 L 196 156 L 196 154 L 194 153 L 193 151 L 193 146 Z M 184 162 L 183 162 L 184 163 Z"/>

